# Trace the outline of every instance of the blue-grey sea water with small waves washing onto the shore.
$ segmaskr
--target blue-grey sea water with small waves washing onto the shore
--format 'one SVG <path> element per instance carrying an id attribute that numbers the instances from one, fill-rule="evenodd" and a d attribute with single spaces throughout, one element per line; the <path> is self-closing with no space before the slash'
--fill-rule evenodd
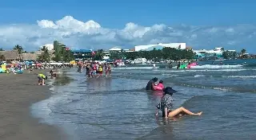
<path id="1" fill-rule="evenodd" d="M 255 139 L 256 60 L 199 62 L 191 69 L 113 68 L 110 78 L 87 80 L 66 69 L 50 81 L 53 95 L 32 114 L 60 126 L 70 139 Z M 203 111 L 179 119 L 155 116 L 159 91 L 143 90 L 153 77 L 178 93 L 174 107 Z"/>

